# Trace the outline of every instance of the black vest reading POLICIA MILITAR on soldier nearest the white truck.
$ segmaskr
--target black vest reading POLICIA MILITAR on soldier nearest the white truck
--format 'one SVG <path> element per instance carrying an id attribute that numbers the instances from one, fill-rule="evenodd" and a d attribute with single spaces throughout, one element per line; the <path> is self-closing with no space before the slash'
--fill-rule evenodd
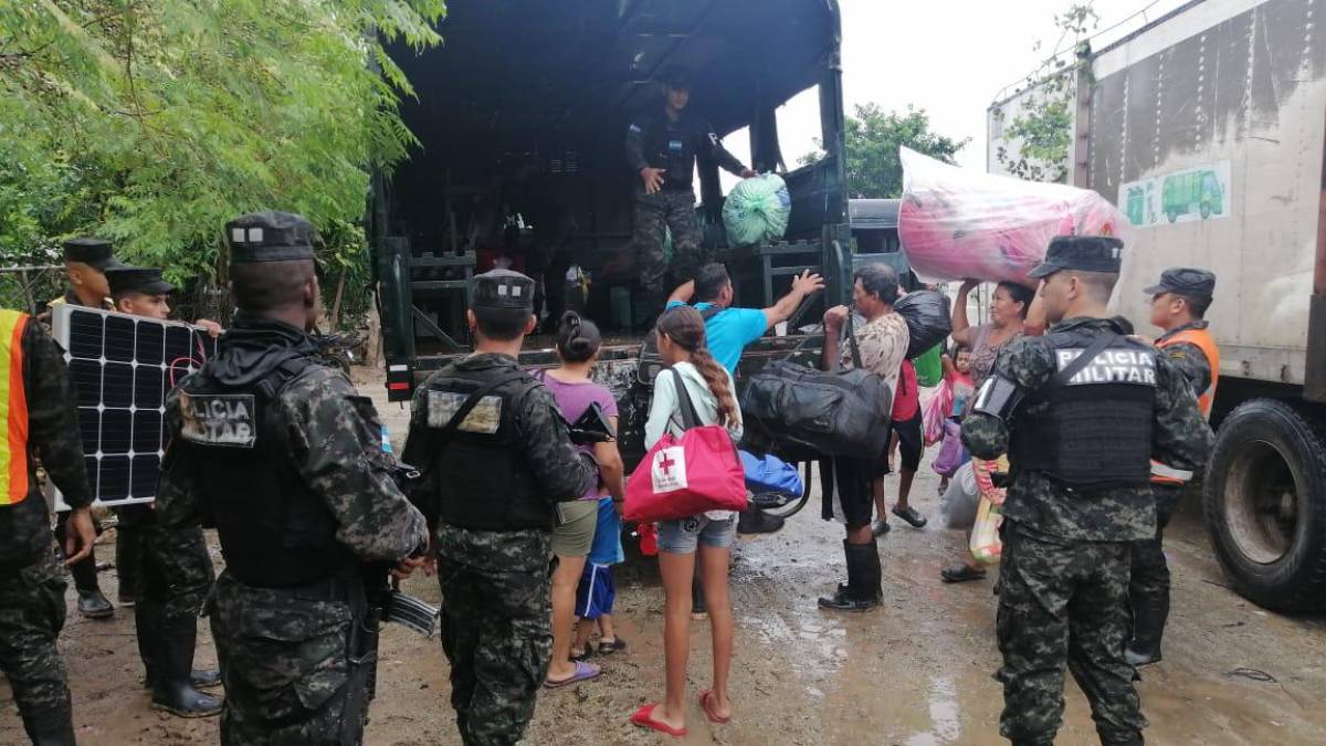
<path id="1" fill-rule="evenodd" d="M 1062 372 L 1101 333 L 1045 336 Z M 1142 487 L 1151 478 L 1156 361 L 1150 345 L 1119 336 L 1067 381 L 1054 376 L 1024 404 L 1009 443 L 1018 471 L 1075 488 Z"/>

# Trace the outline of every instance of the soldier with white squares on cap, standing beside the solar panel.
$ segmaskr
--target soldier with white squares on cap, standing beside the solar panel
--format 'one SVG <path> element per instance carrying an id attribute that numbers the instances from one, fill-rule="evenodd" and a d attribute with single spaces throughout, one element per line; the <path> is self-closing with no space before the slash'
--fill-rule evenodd
<path id="1" fill-rule="evenodd" d="M 373 404 L 308 333 L 313 227 L 259 212 L 227 239 L 241 311 L 167 397 L 145 595 L 164 597 L 167 620 L 211 617 L 223 743 L 358 743 L 375 662 L 361 563 L 407 571 L 427 527 L 392 481 Z M 227 565 L 210 596 L 200 524 L 217 528 Z"/>

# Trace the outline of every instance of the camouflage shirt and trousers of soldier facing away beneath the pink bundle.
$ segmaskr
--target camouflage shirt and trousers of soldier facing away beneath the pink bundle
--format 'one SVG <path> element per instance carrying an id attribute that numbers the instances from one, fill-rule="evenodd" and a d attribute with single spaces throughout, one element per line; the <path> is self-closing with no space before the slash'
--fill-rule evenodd
<path id="1" fill-rule="evenodd" d="M 1119 335 L 1113 320 L 1071 319 L 1050 332 Z M 1044 337 L 1005 348 L 993 376 L 1034 392 L 1057 370 Z M 1193 469 L 1212 446 L 1211 427 L 1197 411 L 1187 380 L 1156 360 L 1152 455 Z M 963 421 L 963 442 L 977 458 L 1009 447 L 1017 427 L 973 411 Z M 1000 733 L 1014 743 L 1052 743 L 1063 713 L 1063 664 L 1091 704 L 1103 743 L 1142 743 L 1142 717 L 1132 668 L 1123 660 L 1128 628 L 1127 584 L 1131 542 L 1155 534 L 1150 487 L 1099 490 L 1093 495 L 1059 486 L 1042 473 L 1012 465 L 1004 504 L 997 634 L 1004 666 Z"/>

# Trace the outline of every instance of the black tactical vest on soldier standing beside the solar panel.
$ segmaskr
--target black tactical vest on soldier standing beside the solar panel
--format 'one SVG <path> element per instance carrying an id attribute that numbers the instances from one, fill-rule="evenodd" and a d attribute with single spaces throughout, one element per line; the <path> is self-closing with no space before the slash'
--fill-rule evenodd
<path id="1" fill-rule="evenodd" d="M 281 388 L 314 362 L 292 358 L 263 381 L 229 388 L 204 374 L 179 394 L 178 443 L 191 458 L 204 526 L 215 526 L 225 568 L 247 585 L 304 585 L 347 569 L 337 520 L 289 459 Z M 206 373 L 206 370 L 204 370 Z"/>

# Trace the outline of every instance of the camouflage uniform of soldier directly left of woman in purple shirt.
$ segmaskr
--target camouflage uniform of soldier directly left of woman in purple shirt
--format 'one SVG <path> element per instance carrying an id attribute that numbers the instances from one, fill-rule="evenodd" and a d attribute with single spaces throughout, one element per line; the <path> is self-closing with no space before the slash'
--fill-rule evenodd
<path id="1" fill-rule="evenodd" d="M 511 357 L 476 353 L 443 368 L 415 393 L 410 435 L 402 459 L 426 467 L 424 483 L 436 523 L 434 546 L 442 585 L 442 649 L 451 664 L 451 705 L 467 746 L 511 745 L 520 741 L 534 713 L 534 697 L 548 674 L 552 657 L 552 510 L 557 500 L 583 495 L 598 471 L 593 461 L 570 442 L 552 394 L 525 376 L 522 393 L 512 401 L 517 433 L 505 435 L 512 463 L 528 469 L 546 514 L 544 527 L 477 530 L 448 523 L 442 490 L 456 502 L 491 500 L 487 492 L 461 492 L 460 475 L 439 474 L 436 430 L 455 409 L 430 413 L 448 392 L 450 380 L 496 380 L 520 368 Z M 464 397 L 461 397 L 464 398 Z M 476 408 L 475 414 L 484 413 Z M 497 433 L 499 423 L 484 415 L 467 417 L 464 427 Z M 451 446 L 455 447 L 455 446 Z M 487 471 L 484 465 L 473 469 Z"/>

